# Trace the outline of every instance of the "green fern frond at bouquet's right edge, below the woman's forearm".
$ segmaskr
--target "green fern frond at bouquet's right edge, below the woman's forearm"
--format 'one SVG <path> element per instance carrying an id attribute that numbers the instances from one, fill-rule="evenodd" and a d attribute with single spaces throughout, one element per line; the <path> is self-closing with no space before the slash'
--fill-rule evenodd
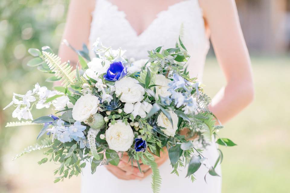
<path id="1" fill-rule="evenodd" d="M 203 116 L 208 117 L 208 119 L 203 119 L 201 134 L 204 136 L 206 141 L 211 141 L 211 137 L 215 130 L 215 119 L 214 116 L 209 113 L 204 113 Z"/>

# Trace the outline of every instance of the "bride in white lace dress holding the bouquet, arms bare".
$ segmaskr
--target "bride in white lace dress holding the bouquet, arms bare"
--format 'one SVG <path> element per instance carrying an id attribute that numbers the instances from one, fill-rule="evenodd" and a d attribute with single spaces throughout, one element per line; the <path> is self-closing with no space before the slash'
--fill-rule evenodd
<path id="1" fill-rule="evenodd" d="M 128 59 L 144 59 L 147 50 L 173 47 L 179 35 L 191 55 L 188 71 L 200 81 L 211 38 L 227 84 L 214 96 L 210 110 L 222 123 L 227 122 L 253 100 L 250 58 L 234 0 L 72 0 L 63 39 L 81 49 L 82 43 L 91 47 L 100 37 L 104 45 L 126 49 Z M 78 61 L 65 45 L 60 46 L 59 56 L 71 64 Z M 216 144 L 207 146 L 203 154 L 214 165 Z M 151 192 L 151 169 L 141 165 L 140 173 L 137 164 L 132 168 L 127 158 L 118 166 L 99 166 L 93 175 L 87 164 L 82 192 Z M 161 192 L 221 192 L 221 177 L 208 175 L 205 182 L 205 166 L 195 173 L 197 180 L 192 183 L 185 178 L 186 171 L 179 171 L 179 177 L 170 174 L 166 149 L 156 162 L 163 182 Z M 221 175 L 220 166 L 216 171 Z"/>

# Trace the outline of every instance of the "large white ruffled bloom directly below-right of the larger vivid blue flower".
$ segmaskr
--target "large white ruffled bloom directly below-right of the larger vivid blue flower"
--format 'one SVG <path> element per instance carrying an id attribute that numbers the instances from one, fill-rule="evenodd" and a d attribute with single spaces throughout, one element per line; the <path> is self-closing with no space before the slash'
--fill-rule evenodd
<path id="1" fill-rule="evenodd" d="M 115 82 L 115 93 L 120 97 L 123 103 L 136 103 L 140 102 L 144 98 L 145 89 L 138 84 L 139 82 L 131 77 L 122 78 Z"/>

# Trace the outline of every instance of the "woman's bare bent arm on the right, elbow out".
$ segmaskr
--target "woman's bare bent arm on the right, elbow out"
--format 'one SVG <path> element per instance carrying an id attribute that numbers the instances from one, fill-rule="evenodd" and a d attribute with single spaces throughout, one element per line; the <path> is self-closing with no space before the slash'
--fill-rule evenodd
<path id="1" fill-rule="evenodd" d="M 211 42 L 227 84 L 213 98 L 210 110 L 222 122 L 237 115 L 254 95 L 250 56 L 234 0 L 200 0 Z"/>

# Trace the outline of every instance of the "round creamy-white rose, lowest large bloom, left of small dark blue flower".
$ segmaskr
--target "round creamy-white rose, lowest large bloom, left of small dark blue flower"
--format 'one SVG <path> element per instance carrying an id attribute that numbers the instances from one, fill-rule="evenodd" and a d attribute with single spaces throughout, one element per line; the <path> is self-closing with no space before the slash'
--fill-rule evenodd
<path id="1" fill-rule="evenodd" d="M 106 141 L 109 148 L 115 151 L 127 151 L 133 144 L 134 134 L 130 125 L 121 120 L 111 125 L 106 131 Z"/>

